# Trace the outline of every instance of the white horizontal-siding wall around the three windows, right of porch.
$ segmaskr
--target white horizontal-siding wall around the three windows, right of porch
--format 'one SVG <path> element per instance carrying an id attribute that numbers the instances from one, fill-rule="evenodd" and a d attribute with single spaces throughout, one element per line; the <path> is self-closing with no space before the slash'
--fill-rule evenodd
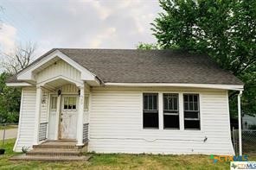
<path id="1" fill-rule="evenodd" d="M 143 92 L 179 93 L 181 129 L 143 129 Z M 183 93 L 199 93 L 201 130 L 183 129 Z M 89 151 L 98 153 L 234 154 L 227 91 L 186 88 L 110 88 L 91 91 Z M 203 140 L 207 137 L 207 141 Z"/>

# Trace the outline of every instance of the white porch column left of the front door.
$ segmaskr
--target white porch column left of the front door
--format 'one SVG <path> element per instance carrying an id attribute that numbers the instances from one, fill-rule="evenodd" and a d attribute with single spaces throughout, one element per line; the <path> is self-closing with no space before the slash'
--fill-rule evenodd
<path id="1" fill-rule="evenodd" d="M 39 142 L 41 103 L 42 103 L 42 87 L 36 86 L 34 145 L 37 145 Z"/>

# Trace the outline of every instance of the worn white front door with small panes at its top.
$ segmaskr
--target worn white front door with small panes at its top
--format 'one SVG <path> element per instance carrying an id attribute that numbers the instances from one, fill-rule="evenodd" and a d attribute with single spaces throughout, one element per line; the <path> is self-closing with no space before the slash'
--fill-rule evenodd
<path id="1" fill-rule="evenodd" d="M 61 102 L 61 139 L 76 139 L 78 111 L 77 96 L 62 96 Z"/>

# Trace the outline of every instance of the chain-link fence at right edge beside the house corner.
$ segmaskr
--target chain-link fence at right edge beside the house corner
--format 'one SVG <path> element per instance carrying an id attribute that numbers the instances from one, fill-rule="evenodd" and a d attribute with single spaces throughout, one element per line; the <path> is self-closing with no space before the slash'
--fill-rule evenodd
<path id="1" fill-rule="evenodd" d="M 242 154 L 256 155 L 256 130 L 242 129 Z M 239 130 L 233 129 L 231 132 L 234 152 L 239 154 Z"/>

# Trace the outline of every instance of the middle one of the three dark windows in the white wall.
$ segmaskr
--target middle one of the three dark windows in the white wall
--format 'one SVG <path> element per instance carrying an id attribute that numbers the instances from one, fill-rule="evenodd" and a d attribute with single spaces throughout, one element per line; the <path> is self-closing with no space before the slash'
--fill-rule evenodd
<path id="1" fill-rule="evenodd" d="M 163 94 L 163 129 L 180 129 L 178 94 Z"/>

